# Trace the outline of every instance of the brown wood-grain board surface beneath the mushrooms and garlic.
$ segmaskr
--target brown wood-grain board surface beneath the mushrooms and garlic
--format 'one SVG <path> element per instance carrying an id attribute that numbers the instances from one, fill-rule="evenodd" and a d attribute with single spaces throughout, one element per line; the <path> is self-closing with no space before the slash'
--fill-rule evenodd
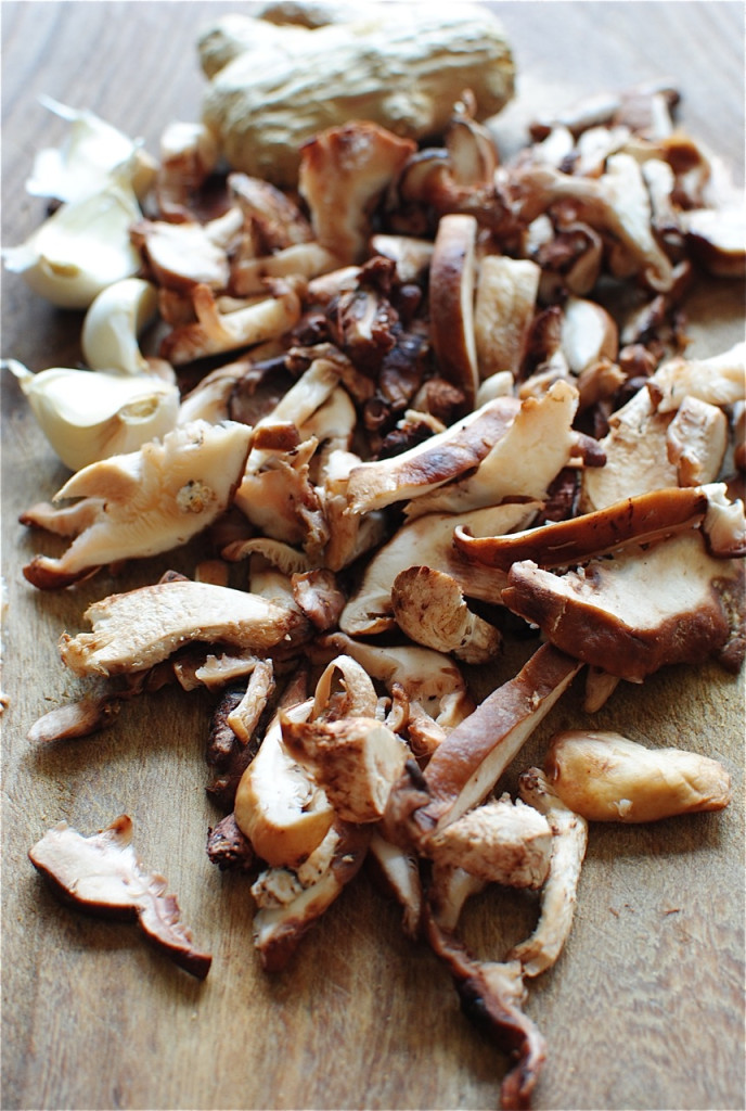
<path id="1" fill-rule="evenodd" d="M 65 131 L 41 93 L 87 107 L 150 150 L 172 119 L 199 116 L 199 27 L 220 2 L 3 2 L 2 237 L 21 242 L 43 203 L 24 180 L 34 152 Z M 530 112 L 584 92 L 669 77 L 681 120 L 743 179 L 742 3 L 496 3 L 520 97 L 497 126 L 506 147 Z M 693 350 L 743 338 L 743 286 L 689 304 Z M 2 350 L 33 370 L 75 366 L 80 314 L 2 276 Z M 67 472 L 2 382 L 2 544 L 9 610 L 2 684 L 2 1094 L 4 1109 L 492 1108 L 505 1060 L 461 1015 L 446 973 L 406 941 L 399 911 L 361 875 L 266 975 L 252 947 L 248 884 L 204 852 L 216 813 L 203 761 L 210 701 L 165 690 L 132 702 L 112 729 L 34 748 L 26 734 L 81 689 L 60 663 L 63 629 L 94 599 L 189 573 L 196 546 L 41 594 L 20 568 L 39 537 L 18 514 Z M 59 546 L 61 548 L 61 544 Z M 54 550 L 52 541 L 44 549 Z M 474 675 L 477 692 L 510 674 Z M 541 760 L 547 735 L 583 722 L 571 692 L 505 779 Z M 548 1042 L 536 1108 L 744 1108 L 744 691 L 715 665 L 623 685 L 598 728 L 722 760 L 734 801 L 720 814 L 639 828 L 594 827 L 577 915 L 557 965 L 532 984 L 528 1013 Z M 127 812 L 138 851 L 162 871 L 214 962 L 204 983 L 128 925 L 62 907 L 28 850 L 61 819 L 92 833 Z M 535 921 L 535 901 L 495 890 L 465 932 L 500 959 Z"/>

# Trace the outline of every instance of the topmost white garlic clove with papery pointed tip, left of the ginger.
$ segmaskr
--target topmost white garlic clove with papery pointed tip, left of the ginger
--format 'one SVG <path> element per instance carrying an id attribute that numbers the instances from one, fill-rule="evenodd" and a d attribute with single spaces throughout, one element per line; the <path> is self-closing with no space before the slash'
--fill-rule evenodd
<path id="1" fill-rule="evenodd" d="M 70 123 L 61 147 L 40 150 L 26 182 L 32 197 L 53 197 L 69 203 L 100 192 L 112 174 L 123 173 L 139 199 L 151 189 L 157 173 L 155 161 L 142 149 L 142 141 L 130 139 L 94 112 L 78 111 L 51 97 L 40 97 L 50 112 Z"/>

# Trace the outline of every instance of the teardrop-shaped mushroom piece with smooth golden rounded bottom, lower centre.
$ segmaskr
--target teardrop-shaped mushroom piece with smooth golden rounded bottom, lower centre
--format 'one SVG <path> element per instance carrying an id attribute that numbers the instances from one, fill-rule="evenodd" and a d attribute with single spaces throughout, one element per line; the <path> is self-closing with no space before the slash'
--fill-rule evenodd
<path id="1" fill-rule="evenodd" d="M 306 699 L 286 708 L 283 718 L 303 721 L 312 709 L 313 700 Z M 332 805 L 323 788 L 288 751 L 279 713 L 241 777 L 233 813 L 256 855 L 272 868 L 298 868 L 332 827 Z"/>

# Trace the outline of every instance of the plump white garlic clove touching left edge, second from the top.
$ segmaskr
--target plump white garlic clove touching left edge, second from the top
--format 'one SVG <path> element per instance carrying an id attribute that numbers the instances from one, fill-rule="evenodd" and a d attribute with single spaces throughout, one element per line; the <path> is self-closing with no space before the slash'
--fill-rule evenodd
<path id="1" fill-rule="evenodd" d="M 3 251 L 6 268 L 61 309 L 88 309 L 115 281 L 137 274 L 140 254 L 130 224 L 141 211 L 131 187 L 111 182 L 63 204 L 20 247 Z"/>

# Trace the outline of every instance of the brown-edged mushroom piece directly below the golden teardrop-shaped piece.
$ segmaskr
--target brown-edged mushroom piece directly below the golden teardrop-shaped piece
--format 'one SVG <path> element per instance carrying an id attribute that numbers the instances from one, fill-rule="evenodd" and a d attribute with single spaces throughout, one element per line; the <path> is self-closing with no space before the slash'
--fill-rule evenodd
<path id="1" fill-rule="evenodd" d="M 285 968 L 303 935 L 360 871 L 372 825 L 337 821 L 313 857 L 298 871 L 269 869 L 252 888 L 259 910 L 254 915 L 254 944 L 263 968 Z"/>

